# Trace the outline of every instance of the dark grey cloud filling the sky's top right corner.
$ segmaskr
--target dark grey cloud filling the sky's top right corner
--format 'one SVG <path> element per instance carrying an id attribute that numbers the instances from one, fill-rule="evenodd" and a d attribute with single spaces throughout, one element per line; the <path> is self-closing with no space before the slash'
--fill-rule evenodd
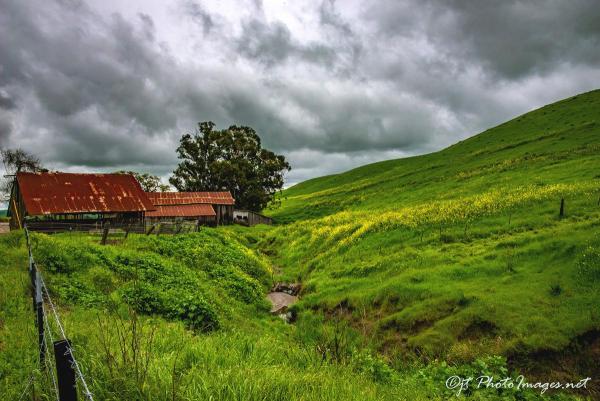
<path id="1" fill-rule="evenodd" d="M 596 0 L 390 0 L 372 3 L 366 16 L 382 35 L 425 35 L 462 68 L 519 79 L 561 63 L 597 65 L 599 9 Z"/>

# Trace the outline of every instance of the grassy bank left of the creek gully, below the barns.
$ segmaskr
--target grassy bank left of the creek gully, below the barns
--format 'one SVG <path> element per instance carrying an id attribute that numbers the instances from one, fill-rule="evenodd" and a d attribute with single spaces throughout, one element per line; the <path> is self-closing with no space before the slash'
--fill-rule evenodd
<path id="1" fill-rule="evenodd" d="M 333 359 L 319 351 L 330 341 L 324 327 L 308 339 L 271 316 L 269 266 L 228 232 L 97 240 L 33 240 L 96 400 L 425 397 L 416 369 L 401 377 L 349 344 L 356 358 Z M 24 243 L 22 232 L 0 237 L 0 393 L 17 399 L 33 374 L 41 399 L 51 399 L 36 361 Z"/>

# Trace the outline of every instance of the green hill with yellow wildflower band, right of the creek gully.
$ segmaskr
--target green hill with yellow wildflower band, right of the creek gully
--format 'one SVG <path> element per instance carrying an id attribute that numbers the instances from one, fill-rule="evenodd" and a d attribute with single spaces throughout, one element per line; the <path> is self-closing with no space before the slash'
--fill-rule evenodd
<path id="1" fill-rule="evenodd" d="M 575 377 L 600 357 L 599 197 L 596 90 L 300 183 L 262 246 L 304 283 L 300 319 L 341 315 L 391 360 L 504 354 Z"/>

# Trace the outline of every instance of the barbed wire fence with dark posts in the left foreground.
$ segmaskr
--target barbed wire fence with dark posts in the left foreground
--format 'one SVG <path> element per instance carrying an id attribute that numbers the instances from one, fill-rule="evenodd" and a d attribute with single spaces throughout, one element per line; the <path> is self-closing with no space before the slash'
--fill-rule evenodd
<path id="1" fill-rule="evenodd" d="M 24 227 L 24 231 L 29 257 L 33 311 L 38 330 L 40 369 L 49 376 L 49 381 L 52 383 L 51 392 L 57 401 L 77 401 L 79 399 L 78 389 L 83 399 L 94 401 L 80 364 L 75 359 L 71 341 L 67 337 L 48 286 L 33 258 L 29 230 Z M 32 375 L 19 400 L 25 399 L 28 391 L 33 389 L 33 382 L 34 376 Z"/>

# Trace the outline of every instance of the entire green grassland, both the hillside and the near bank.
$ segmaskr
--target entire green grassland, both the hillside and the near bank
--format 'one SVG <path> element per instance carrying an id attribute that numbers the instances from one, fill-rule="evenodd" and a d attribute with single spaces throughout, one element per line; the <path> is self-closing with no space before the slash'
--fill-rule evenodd
<path id="1" fill-rule="evenodd" d="M 446 400 L 452 375 L 599 395 L 600 92 L 284 191 L 275 226 L 33 238 L 96 400 Z M 561 199 L 564 213 L 559 215 Z M 35 377 L 22 232 L 0 236 L 0 394 Z M 301 282 L 293 324 L 273 282 Z M 53 328 L 55 329 L 55 327 Z"/>

